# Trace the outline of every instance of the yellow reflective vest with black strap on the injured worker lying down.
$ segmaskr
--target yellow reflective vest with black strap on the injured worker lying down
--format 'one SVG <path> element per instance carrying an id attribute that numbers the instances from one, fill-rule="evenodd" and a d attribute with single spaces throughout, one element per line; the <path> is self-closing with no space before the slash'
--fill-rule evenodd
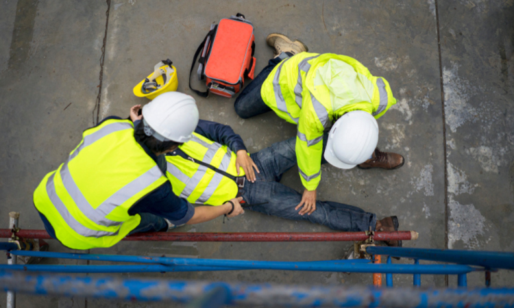
<path id="1" fill-rule="evenodd" d="M 234 177 L 245 175 L 243 168 L 240 168 L 240 173 L 237 175 L 236 153 L 228 146 L 209 140 L 198 133 L 193 133 L 193 138 L 180 145 L 179 149 L 188 156 Z M 221 173 L 174 153 L 166 155 L 166 160 L 166 176 L 171 181 L 173 192 L 181 198 L 186 198 L 190 203 L 221 205 L 236 197 L 238 192 L 236 182 Z"/>

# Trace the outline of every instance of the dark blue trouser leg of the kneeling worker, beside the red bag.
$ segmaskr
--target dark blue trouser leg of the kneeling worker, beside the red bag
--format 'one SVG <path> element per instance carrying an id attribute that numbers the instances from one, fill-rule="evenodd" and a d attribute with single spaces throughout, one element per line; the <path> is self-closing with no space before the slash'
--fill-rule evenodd
<path id="1" fill-rule="evenodd" d="M 284 55 L 284 57 L 288 56 L 284 53 L 282 53 L 282 55 Z M 243 89 L 241 94 L 239 94 L 236 102 L 234 103 L 234 108 L 238 116 L 241 118 L 252 118 L 252 116 L 257 116 L 258 114 L 264 114 L 271 111 L 271 108 L 262 101 L 260 88 L 262 88 L 262 84 L 264 84 L 264 81 L 268 77 L 269 73 L 271 73 L 271 70 L 273 70 L 273 68 L 282 61 L 282 58 L 284 58 L 282 55 L 269 60 L 268 66 L 262 69 L 259 75 L 257 75 L 257 77 L 255 77 L 254 80 L 252 80 L 252 82 Z"/>

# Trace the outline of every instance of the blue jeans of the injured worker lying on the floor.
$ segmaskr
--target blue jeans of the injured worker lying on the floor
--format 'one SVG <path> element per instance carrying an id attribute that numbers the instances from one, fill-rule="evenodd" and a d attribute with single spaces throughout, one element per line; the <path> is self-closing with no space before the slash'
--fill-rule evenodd
<path id="1" fill-rule="evenodd" d="M 323 136 L 323 149 L 327 136 Z M 256 173 L 255 183 L 245 183 L 243 199 L 249 205 L 268 203 L 249 209 L 291 220 L 308 220 L 338 231 L 368 231 L 369 227 L 375 231 L 375 214 L 343 203 L 316 201 L 313 214 L 298 214 L 300 209 L 295 207 L 302 201 L 302 194 L 278 182 L 286 170 L 296 165 L 295 143 L 296 138 L 291 138 L 250 155 L 260 173 Z"/>

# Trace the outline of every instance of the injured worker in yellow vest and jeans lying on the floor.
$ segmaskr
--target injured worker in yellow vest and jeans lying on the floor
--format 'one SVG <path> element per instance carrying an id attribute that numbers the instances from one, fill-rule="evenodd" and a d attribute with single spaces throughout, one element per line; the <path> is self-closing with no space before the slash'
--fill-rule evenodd
<path id="1" fill-rule="evenodd" d="M 245 144 L 227 125 L 199 120 L 193 138 L 167 153 L 166 175 L 173 192 L 191 203 L 219 205 L 243 196 L 243 207 L 293 220 L 308 220 L 339 231 L 397 231 L 396 216 L 375 214 L 342 203 L 317 201 L 317 210 L 300 216 L 302 194 L 279 183 L 295 166 L 295 138 L 248 155 Z M 390 241 L 402 246 L 401 241 Z"/>

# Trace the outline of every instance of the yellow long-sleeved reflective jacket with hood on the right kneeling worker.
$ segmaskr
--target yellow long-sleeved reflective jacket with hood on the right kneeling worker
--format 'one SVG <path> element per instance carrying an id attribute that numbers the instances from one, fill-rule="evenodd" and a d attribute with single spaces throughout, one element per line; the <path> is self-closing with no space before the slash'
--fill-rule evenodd
<path id="1" fill-rule="evenodd" d="M 323 132 L 336 119 L 354 110 L 380 118 L 396 103 L 385 78 L 374 77 L 352 57 L 333 53 L 298 53 L 283 60 L 260 94 L 278 116 L 297 125 L 298 172 L 307 190 L 319 184 Z"/>

